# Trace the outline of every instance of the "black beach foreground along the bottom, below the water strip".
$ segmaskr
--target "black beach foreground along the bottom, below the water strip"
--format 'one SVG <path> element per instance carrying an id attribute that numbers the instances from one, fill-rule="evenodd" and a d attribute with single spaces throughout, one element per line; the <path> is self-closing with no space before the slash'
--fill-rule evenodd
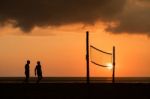
<path id="1" fill-rule="evenodd" d="M 150 83 L 0 83 L 0 99 L 150 99 Z"/>

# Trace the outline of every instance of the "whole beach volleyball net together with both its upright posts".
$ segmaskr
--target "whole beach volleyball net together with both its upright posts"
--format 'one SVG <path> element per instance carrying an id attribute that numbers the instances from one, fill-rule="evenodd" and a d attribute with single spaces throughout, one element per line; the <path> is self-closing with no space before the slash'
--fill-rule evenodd
<path id="1" fill-rule="evenodd" d="M 89 51 L 90 50 L 90 51 Z M 115 46 L 113 46 L 112 52 L 107 52 L 101 49 L 89 45 L 89 32 L 86 32 L 86 75 L 87 84 L 90 82 L 90 68 L 89 62 L 100 66 L 112 69 L 112 83 L 115 82 Z"/>

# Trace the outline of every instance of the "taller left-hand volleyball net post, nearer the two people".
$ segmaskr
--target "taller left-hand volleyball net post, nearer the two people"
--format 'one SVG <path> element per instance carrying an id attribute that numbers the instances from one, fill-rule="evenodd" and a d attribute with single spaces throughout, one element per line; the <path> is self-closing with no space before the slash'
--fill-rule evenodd
<path id="1" fill-rule="evenodd" d="M 86 83 L 90 83 L 90 68 L 89 68 L 89 31 L 86 32 Z"/>

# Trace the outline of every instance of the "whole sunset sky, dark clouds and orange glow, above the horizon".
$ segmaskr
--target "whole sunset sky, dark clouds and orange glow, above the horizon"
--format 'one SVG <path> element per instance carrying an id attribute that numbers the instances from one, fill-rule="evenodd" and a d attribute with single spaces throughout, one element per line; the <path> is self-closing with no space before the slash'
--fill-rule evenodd
<path id="1" fill-rule="evenodd" d="M 150 0 L 0 0 L 0 77 L 24 76 L 28 59 L 31 76 L 41 61 L 44 76 L 85 77 L 86 31 L 116 47 L 117 77 L 150 76 Z M 111 73 L 90 63 L 91 76 Z"/>

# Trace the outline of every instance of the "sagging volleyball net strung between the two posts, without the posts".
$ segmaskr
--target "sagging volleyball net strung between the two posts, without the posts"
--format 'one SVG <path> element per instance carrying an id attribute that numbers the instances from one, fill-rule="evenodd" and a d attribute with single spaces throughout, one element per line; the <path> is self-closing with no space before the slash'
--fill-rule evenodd
<path id="1" fill-rule="evenodd" d="M 90 60 L 95 65 L 108 67 L 108 64 L 112 64 L 112 53 L 102 51 L 91 45 Z"/>

